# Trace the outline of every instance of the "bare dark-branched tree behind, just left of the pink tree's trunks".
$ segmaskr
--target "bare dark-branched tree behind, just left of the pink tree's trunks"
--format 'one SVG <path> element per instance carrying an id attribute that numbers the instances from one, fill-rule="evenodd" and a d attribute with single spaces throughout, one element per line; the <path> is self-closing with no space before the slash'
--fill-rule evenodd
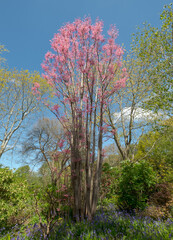
<path id="1" fill-rule="evenodd" d="M 65 141 L 62 126 L 57 119 L 42 118 L 28 133 L 22 144 L 22 155 L 28 156 L 31 164 L 41 164 L 39 173 L 57 180 L 69 165 L 69 146 Z M 45 181 L 46 179 L 44 179 Z"/>

